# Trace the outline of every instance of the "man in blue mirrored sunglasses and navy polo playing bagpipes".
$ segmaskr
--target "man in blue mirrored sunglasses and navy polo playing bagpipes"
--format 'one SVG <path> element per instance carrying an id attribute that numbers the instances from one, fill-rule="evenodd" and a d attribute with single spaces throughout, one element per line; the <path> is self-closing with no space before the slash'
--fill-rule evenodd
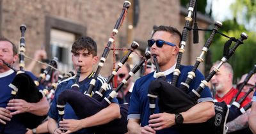
<path id="1" fill-rule="evenodd" d="M 151 55 L 152 57 L 157 57 L 159 68 L 166 75 L 167 82 L 172 82 L 173 70 L 176 66 L 177 54 L 179 53 L 180 40 L 180 32 L 170 26 L 154 27 L 152 38 L 148 40 Z M 181 73 L 178 86 L 180 82 L 186 80 L 188 72 L 191 70 L 192 66 L 180 67 Z M 139 78 L 134 84 L 127 117 L 129 119 L 127 125 L 129 133 L 180 133 L 177 130 L 179 124 L 202 123 L 214 115 L 214 103 L 208 87 L 200 94 L 201 97 L 198 103 L 187 111 L 177 114 L 159 113 L 159 107 L 156 103 L 155 114 L 150 115 L 147 93 L 148 86 L 154 79 L 156 79 L 156 72 Z M 197 70 L 196 77 L 191 82 L 189 91 L 196 89 L 201 80 L 204 80 L 204 77 Z M 191 133 L 193 130 L 187 131 Z"/>

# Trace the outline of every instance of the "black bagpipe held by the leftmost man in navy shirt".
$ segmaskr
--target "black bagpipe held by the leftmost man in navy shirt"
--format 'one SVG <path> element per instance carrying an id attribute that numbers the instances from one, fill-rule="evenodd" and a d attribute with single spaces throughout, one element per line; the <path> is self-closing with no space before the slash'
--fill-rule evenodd
<path id="1" fill-rule="evenodd" d="M 31 75 L 29 73 L 26 73 L 24 71 L 24 57 L 25 57 L 25 37 L 24 33 L 26 31 L 26 26 L 22 24 L 20 26 L 20 32 L 21 32 L 21 37 L 20 37 L 20 48 L 19 48 L 19 70 L 15 70 L 10 64 L 6 63 L 3 61 L 6 66 L 11 68 L 13 71 L 17 73 L 15 78 L 13 78 L 12 83 L 9 85 L 12 89 L 12 99 L 22 99 L 25 100 L 29 103 L 37 103 L 40 101 L 46 94 L 46 90 L 38 90 L 38 86 L 40 86 L 40 82 L 45 78 L 45 76 L 49 73 L 49 70 L 51 70 L 51 67 L 54 64 L 57 64 L 58 59 L 55 57 L 52 59 L 50 65 L 45 69 L 44 75 L 40 75 L 39 78 L 37 78 L 36 81 L 31 78 Z M 42 86 L 40 86 L 42 88 Z M 29 112 L 22 113 L 22 114 L 17 114 L 17 117 L 22 121 L 22 124 L 26 128 L 33 129 L 36 128 L 39 124 L 44 121 L 44 119 L 47 117 L 47 115 L 35 115 L 31 114 Z M 4 126 L 5 127 L 5 126 Z M 3 129 L 4 132 L 4 129 Z"/>

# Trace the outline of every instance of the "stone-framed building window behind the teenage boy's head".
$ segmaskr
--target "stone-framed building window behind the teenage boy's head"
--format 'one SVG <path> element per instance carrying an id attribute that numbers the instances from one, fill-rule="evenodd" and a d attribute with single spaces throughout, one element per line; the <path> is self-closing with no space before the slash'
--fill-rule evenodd
<path id="1" fill-rule="evenodd" d="M 78 22 L 60 17 L 45 16 L 45 50 L 50 57 L 58 57 L 58 69 L 67 73 L 74 71 L 71 46 L 79 36 L 86 35 L 86 27 Z"/>

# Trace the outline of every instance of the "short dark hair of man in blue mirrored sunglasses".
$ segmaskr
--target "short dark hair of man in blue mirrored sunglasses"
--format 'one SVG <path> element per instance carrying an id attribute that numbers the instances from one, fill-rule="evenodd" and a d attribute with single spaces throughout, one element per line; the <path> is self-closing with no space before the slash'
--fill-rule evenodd
<path id="1" fill-rule="evenodd" d="M 173 34 L 173 36 L 177 36 L 177 38 L 179 38 L 179 40 L 181 40 L 181 33 L 178 29 L 176 29 L 175 27 L 172 26 L 154 26 L 153 28 L 153 33 L 152 36 L 157 32 L 157 31 L 166 31 L 170 34 Z M 179 46 L 180 47 L 180 46 Z"/>

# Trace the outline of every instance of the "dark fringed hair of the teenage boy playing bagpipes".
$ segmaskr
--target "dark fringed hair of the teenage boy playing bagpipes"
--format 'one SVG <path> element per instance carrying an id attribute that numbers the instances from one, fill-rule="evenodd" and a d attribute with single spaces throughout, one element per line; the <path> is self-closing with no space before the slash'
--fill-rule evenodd
<path id="1" fill-rule="evenodd" d="M 89 36 L 80 37 L 73 43 L 71 52 L 79 50 L 88 50 L 89 54 L 97 56 L 97 43 Z"/>

